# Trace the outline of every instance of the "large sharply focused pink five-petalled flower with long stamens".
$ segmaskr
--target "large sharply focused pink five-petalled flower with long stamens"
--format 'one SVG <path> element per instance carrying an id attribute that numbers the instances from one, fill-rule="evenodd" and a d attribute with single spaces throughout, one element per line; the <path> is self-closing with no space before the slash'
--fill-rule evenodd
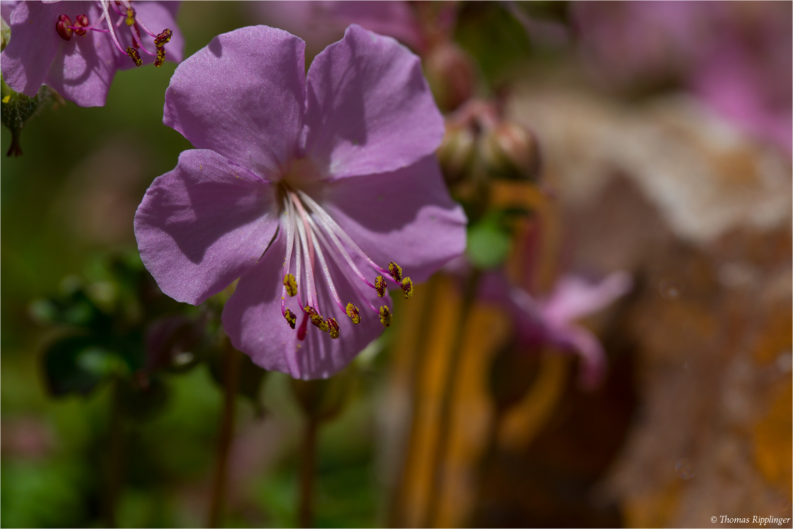
<path id="1" fill-rule="evenodd" d="M 466 220 L 433 155 L 443 119 L 418 57 L 357 25 L 308 75 L 304 48 L 252 26 L 179 65 L 163 121 L 195 149 L 151 184 L 135 233 L 178 301 L 239 277 L 223 312 L 234 347 L 319 378 L 391 323 L 387 285 L 409 297 L 462 253 Z"/>

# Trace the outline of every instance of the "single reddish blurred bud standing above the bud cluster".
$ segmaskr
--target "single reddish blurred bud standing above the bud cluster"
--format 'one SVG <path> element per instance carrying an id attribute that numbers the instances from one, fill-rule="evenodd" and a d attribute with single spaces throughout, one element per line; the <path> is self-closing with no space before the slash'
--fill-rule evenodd
<path id="1" fill-rule="evenodd" d="M 435 102 L 442 110 L 456 109 L 473 94 L 473 62 L 454 42 L 433 47 L 424 58 L 424 66 Z"/>

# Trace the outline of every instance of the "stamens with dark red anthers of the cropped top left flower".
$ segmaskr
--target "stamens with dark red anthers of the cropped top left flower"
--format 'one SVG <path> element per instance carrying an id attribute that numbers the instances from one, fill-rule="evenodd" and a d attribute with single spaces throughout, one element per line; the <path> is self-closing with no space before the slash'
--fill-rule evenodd
<path id="1" fill-rule="evenodd" d="M 100 33 L 109 33 L 110 40 L 113 41 L 118 51 L 129 56 L 136 66 L 140 66 L 144 63 L 143 60 L 140 59 L 140 52 L 138 52 L 138 50 L 142 50 L 147 55 L 154 56 L 155 66 L 159 67 L 163 65 L 163 61 L 165 61 L 165 44 L 168 44 L 170 37 L 173 36 L 173 31 L 170 29 L 163 29 L 163 33 L 155 34 L 151 32 L 132 8 L 131 0 L 115 0 L 114 2 L 102 0 L 99 2 L 99 5 L 102 6 L 102 15 L 93 23 L 88 20 L 87 15 L 79 14 L 75 17 L 75 23 L 72 25 L 71 18 L 69 18 L 68 15 L 60 15 L 55 25 L 56 32 L 60 38 L 63 40 L 71 40 L 72 33 L 77 33 L 79 36 L 82 36 L 85 35 L 86 31 L 89 29 Z M 117 15 L 115 22 L 111 20 L 110 7 L 113 8 L 113 13 Z M 102 25 L 103 21 L 107 29 L 99 27 Z M 116 32 L 121 30 L 121 25 L 123 23 L 126 23 L 129 32 L 132 34 L 132 46 L 127 46 L 126 50 L 121 48 L 121 44 L 118 42 L 118 36 L 116 35 Z M 155 52 L 148 51 L 144 46 L 143 40 L 140 39 L 141 30 L 149 36 L 154 37 Z"/>

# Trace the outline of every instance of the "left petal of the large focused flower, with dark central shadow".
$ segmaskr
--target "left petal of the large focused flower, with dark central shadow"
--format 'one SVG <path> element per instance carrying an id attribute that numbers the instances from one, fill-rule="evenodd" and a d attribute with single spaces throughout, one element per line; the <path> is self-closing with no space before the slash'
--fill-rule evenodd
<path id="1" fill-rule="evenodd" d="M 256 263 L 276 212 L 268 182 L 216 152 L 183 151 L 135 214 L 140 258 L 164 293 L 197 305 Z"/>

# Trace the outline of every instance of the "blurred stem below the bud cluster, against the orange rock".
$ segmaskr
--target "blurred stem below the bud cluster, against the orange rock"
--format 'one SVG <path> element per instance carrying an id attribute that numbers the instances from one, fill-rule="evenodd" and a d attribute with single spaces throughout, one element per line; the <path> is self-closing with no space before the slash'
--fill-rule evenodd
<path id="1" fill-rule="evenodd" d="M 460 358 L 462 357 L 462 339 L 463 331 L 465 329 L 465 322 L 468 320 L 473 307 L 473 301 L 476 299 L 477 287 L 479 286 L 479 278 L 481 271 L 474 268 L 469 275 L 468 281 L 465 283 L 465 291 L 462 297 L 462 307 L 458 317 L 457 325 L 455 325 L 456 332 L 454 333 L 454 342 L 452 343 L 449 363 L 446 369 L 446 377 L 443 380 L 443 393 L 441 394 L 440 401 L 440 424 L 438 428 L 438 437 L 435 439 L 435 450 L 432 455 L 432 482 L 427 501 L 427 518 L 424 523 L 419 524 L 419 527 L 435 527 L 438 522 L 438 513 L 440 508 L 441 492 L 443 487 L 443 474 L 446 470 L 446 453 L 449 451 L 449 441 L 452 426 L 452 399 L 454 397 L 454 385 L 457 381 L 458 370 L 460 366 Z"/>

